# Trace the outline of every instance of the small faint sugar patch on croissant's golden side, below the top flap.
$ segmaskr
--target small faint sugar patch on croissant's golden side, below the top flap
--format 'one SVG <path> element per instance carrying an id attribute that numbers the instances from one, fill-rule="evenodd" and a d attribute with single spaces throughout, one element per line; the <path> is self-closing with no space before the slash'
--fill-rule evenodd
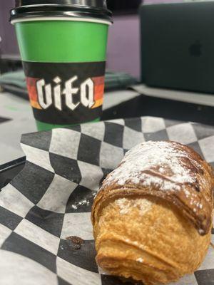
<path id="1" fill-rule="evenodd" d="M 138 208 L 141 215 L 151 209 L 152 202 L 148 199 L 127 199 L 121 198 L 116 200 L 116 204 L 120 208 L 121 214 L 128 214 L 131 209 Z"/>

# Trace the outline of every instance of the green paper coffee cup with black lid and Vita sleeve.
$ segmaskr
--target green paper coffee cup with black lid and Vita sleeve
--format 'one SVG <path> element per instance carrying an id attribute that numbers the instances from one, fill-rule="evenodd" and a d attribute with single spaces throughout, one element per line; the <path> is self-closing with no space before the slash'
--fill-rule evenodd
<path id="1" fill-rule="evenodd" d="M 38 130 L 98 121 L 111 24 L 106 1 L 22 0 L 11 23 Z"/>

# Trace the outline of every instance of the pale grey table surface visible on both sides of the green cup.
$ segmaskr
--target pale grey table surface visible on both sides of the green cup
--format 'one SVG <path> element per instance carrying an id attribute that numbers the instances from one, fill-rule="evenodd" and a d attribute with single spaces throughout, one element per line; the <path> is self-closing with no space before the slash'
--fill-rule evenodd
<path id="1" fill-rule="evenodd" d="M 104 96 L 103 110 L 138 97 L 140 94 L 214 107 L 214 95 L 189 93 L 176 90 L 133 86 L 132 90 L 117 90 Z M 214 110 L 214 109 L 213 109 Z M 143 115 L 143 114 L 142 114 Z M 36 131 L 29 102 L 11 93 L 0 93 L 0 165 L 24 156 L 21 134 Z"/>

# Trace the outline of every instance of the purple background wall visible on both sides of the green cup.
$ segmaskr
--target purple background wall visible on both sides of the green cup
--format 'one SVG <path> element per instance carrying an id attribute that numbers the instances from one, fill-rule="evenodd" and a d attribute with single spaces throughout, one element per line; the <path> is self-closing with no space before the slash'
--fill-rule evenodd
<path id="1" fill-rule="evenodd" d="M 1 52 L 17 54 L 14 26 L 9 23 L 9 10 L 14 0 L 0 0 L 0 43 Z M 116 16 L 109 28 L 107 68 L 112 71 L 124 71 L 133 76 L 140 75 L 139 19 L 137 15 Z"/>

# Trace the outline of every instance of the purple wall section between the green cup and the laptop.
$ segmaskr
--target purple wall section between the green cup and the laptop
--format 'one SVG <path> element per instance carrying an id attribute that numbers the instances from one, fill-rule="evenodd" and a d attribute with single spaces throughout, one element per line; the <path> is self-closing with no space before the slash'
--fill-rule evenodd
<path id="1" fill-rule="evenodd" d="M 138 15 L 116 16 L 109 28 L 107 68 L 140 76 L 140 23 Z"/>

